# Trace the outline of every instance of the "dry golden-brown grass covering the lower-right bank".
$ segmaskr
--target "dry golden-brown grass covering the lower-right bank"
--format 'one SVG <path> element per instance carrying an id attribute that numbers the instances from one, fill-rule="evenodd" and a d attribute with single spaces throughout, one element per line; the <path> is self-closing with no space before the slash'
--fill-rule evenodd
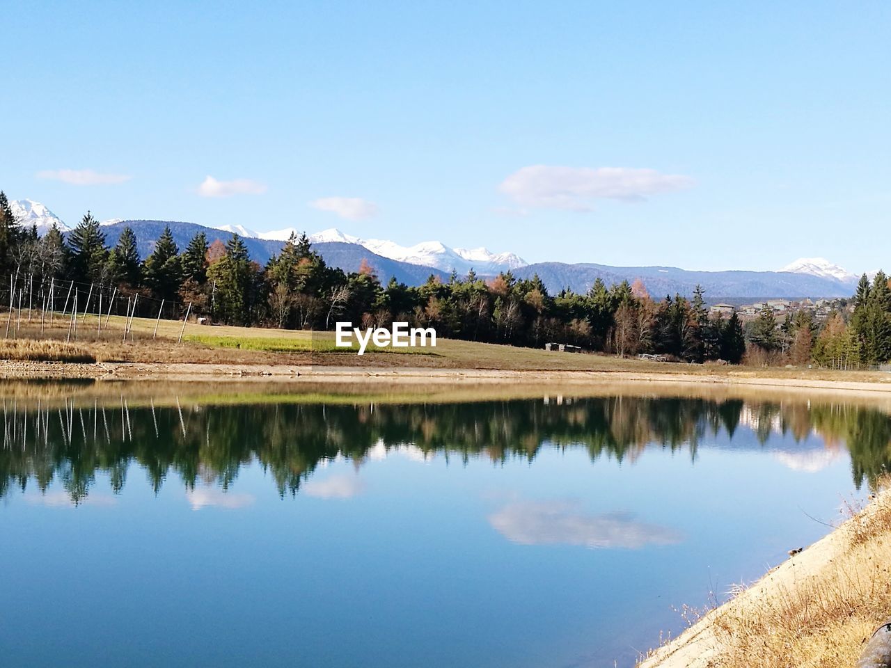
<path id="1" fill-rule="evenodd" d="M 787 565 L 706 615 L 715 668 L 851 668 L 891 614 L 891 493 L 879 493 L 800 570 Z M 799 559 L 798 557 L 796 559 Z M 669 658 L 662 664 L 675 665 Z"/>

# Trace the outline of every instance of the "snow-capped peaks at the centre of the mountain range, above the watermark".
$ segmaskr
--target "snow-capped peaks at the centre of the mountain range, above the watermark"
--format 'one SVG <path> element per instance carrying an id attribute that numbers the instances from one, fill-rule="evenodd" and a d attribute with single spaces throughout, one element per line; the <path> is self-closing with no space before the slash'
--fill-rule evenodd
<path id="1" fill-rule="evenodd" d="M 290 233 L 290 230 L 270 233 Z M 286 239 L 274 237 L 275 239 Z M 486 248 L 449 248 L 439 241 L 423 241 L 414 246 L 400 246 L 395 241 L 380 239 L 359 239 L 350 234 L 344 234 L 336 229 L 316 232 L 309 237 L 314 243 L 339 241 L 341 243 L 356 243 L 368 248 L 372 253 L 388 257 L 391 260 L 407 262 L 412 265 L 421 265 L 441 269 L 450 272 L 453 269 L 458 273 L 467 273 L 473 269 L 479 274 L 492 274 L 517 269 L 526 266 L 527 262 L 513 253 L 492 253 Z"/>

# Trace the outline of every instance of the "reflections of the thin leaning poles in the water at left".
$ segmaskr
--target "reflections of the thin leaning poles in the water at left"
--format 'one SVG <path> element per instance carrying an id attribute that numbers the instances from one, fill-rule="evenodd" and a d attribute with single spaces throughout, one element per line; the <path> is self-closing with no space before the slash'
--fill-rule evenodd
<path id="1" fill-rule="evenodd" d="M 33 404 L 32 404 L 33 405 Z M 29 433 L 32 435 L 35 443 L 39 443 L 41 439 L 44 445 L 49 444 L 49 432 L 51 421 L 56 416 L 59 419 L 59 427 L 61 429 L 62 444 L 71 445 L 72 439 L 77 431 L 78 422 L 81 435 L 86 444 L 89 440 L 89 423 L 90 409 L 86 410 L 86 420 L 84 418 L 84 409 L 78 408 L 75 412 L 74 401 L 66 400 L 63 406 L 56 406 L 55 414 L 52 415 L 53 409 L 48 403 L 37 399 L 37 410 L 28 410 L 28 403 L 21 406 L 17 400 L 12 401 L 12 405 L 7 405 L 6 400 L 3 402 L 3 448 L 4 450 L 12 450 L 13 447 L 20 447 L 24 452 Z M 179 412 L 179 425 L 183 431 L 185 438 L 185 421 L 183 420 L 183 409 L 179 404 L 179 397 L 176 397 L 176 410 Z M 112 410 L 113 413 L 114 410 Z M 100 432 L 100 416 L 102 416 L 102 432 Z M 75 420 L 75 417 L 78 420 Z M 107 443 L 111 443 L 111 431 L 109 428 L 109 418 L 106 414 L 105 407 L 100 406 L 98 400 L 95 401 L 92 415 L 92 431 L 93 440 L 96 441 L 104 433 Z M 159 437 L 158 417 L 155 414 L 155 403 L 151 400 L 151 420 L 154 422 L 155 437 Z M 120 438 L 122 442 L 133 441 L 133 428 L 130 425 L 130 407 L 124 395 L 120 397 Z"/>

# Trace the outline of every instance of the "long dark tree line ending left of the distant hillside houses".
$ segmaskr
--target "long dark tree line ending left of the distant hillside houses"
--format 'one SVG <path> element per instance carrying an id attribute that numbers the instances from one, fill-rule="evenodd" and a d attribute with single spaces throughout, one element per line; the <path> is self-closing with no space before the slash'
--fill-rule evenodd
<path id="1" fill-rule="evenodd" d="M 178 317 L 191 305 L 192 314 L 246 326 L 331 330 L 338 321 L 363 327 L 398 321 L 434 327 L 440 337 L 513 346 L 565 343 L 688 362 L 738 363 L 745 352 L 739 319 L 709 317 L 700 288 L 692 299 L 674 295 L 656 302 L 641 281 L 608 287 L 598 279 L 584 294 L 563 289 L 552 295 L 537 275 L 517 279 L 505 272 L 484 280 L 472 270 L 447 281 L 431 275 L 417 287 L 395 278 L 383 285 L 366 262 L 350 273 L 327 265 L 306 234 L 292 235 L 261 266 L 237 234 L 208 243 L 198 232 L 178 248 L 166 228 L 143 259 L 131 228 L 109 247 L 90 213 L 66 236 L 53 227 L 38 237 L 36 229 L 16 224 L 0 193 L 0 217 L 2 274 L 28 275 L 38 285 L 65 279 L 98 290 L 114 287 L 163 299 L 178 308 Z"/>

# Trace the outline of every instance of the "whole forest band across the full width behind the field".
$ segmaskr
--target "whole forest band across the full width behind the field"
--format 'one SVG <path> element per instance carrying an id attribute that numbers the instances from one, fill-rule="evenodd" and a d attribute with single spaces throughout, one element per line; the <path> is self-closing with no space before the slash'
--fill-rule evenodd
<path id="1" fill-rule="evenodd" d="M 75 299 L 104 299 L 115 313 L 133 299 L 135 314 L 144 317 L 191 314 L 250 327 L 333 330 L 338 321 L 363 328 L 399 321 L 434 327 L 445 338 L 532 347 L 554 342 L 689 363 L 848 370 L 891 359 L 891 289 L 881 272 L 872 281 L 864 275 L 850 305 L 828 318 L 805 310 L 778 317 L 765 305 L 744 323 L 735 313 L 709 314 L 699 286 L 691 298 L 654 298 L 640 280 L 607 286 L 598 279 L 584 294 L 550 294 L 537 276 L 484 278 L 472 270 L 447 281 L 431 275 L 416 287 L 395 279 L 382 285 L 367 263 L 355 273 L 327 265 L 306 234 L 292 235 L 261 266 L 237 235 L 208 243 L 200 232 L 177 248 L 168 228 L 143 258 L 132 229 L 109 248 L 90 213 L 65 235 L 53 227 L 40 237 L 15 221 L 0 192 L 0 276 L 8 277 L 11 307 L 16 295 L 57 307 L 73 286 Z"/>

